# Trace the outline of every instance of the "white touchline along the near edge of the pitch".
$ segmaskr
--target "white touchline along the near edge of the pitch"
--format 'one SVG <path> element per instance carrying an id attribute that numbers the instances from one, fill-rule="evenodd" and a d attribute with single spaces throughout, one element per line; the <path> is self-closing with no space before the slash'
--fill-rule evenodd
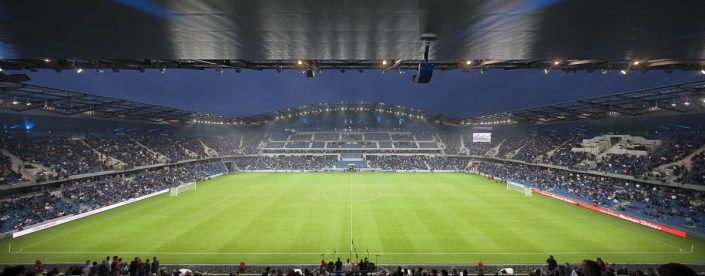
<path id="1" fill-rule="evenodd" d="M 320 252 L 151 252 L 151 251 L 17 251 L 10 254 L 156 254 L 156 255 L 321 255 Z M 374 255 L 584 255 L 584 254 L 692 254 L 679 251 L 585 251 L 585 252 L 371 252 Z"/>

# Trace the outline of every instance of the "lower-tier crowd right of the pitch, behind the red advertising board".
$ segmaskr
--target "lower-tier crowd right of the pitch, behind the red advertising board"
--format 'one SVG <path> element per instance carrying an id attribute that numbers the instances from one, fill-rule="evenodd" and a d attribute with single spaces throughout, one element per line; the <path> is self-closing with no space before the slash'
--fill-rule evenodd
<path id="1" fill-rule="evenodd" d="M 510 162 L 481 162 L 477 171 L 705 233 L 703 192 Z"/>

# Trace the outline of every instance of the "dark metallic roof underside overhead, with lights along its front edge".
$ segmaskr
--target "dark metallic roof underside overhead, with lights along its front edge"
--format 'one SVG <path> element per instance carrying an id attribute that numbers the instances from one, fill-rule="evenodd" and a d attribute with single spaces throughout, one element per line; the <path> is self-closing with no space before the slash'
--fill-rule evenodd
<path id="1" fill-rule="evenodd" d="M 40 0 L 0 10 L 7 69 L 405 70 L 426 34 L 442 70 L 705 65 L 703 1 Z"/>

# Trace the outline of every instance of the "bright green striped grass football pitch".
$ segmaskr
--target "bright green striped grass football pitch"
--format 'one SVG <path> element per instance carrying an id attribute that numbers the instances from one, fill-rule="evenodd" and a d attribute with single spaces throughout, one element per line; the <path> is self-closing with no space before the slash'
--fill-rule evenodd
<path id="1" fill-rule="evenodd" d="M 0 241 L 0 263 L 702 263 L 681 238 L 465 173 L 241 173 Z M 335 254 L 335 255 L 334 255 Z"/>

